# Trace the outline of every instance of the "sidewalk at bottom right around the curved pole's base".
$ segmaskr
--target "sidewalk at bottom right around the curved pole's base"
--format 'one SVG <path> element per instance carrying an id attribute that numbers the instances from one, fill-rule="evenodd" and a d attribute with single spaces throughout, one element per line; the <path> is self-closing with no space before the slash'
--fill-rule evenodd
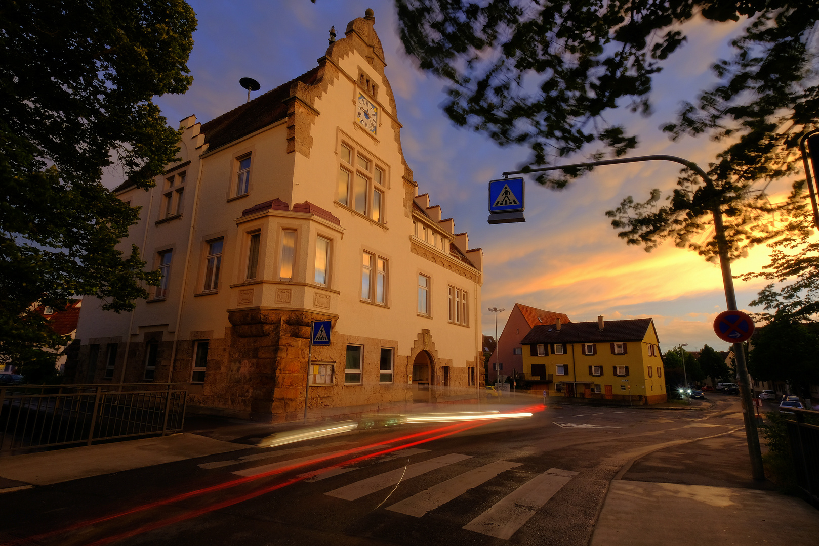
<path id="1" fill-rule="evenodd" d="M 744 431 L 659 449 L 625 468 L 590 546 L 817 544 L 819 510 L 750 479 Z"/>

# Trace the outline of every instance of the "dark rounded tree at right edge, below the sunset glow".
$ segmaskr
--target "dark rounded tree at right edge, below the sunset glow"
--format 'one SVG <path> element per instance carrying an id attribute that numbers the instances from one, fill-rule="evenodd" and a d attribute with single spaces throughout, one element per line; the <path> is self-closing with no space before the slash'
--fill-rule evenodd
<path id="1" fill-rule="evenodd" d="M 819 384 L 819 335 L 815 324 L 805 325 L 776 315 L 753 336 L 748 369 L 762 381 L 785 381 L 803 397 Z"/>

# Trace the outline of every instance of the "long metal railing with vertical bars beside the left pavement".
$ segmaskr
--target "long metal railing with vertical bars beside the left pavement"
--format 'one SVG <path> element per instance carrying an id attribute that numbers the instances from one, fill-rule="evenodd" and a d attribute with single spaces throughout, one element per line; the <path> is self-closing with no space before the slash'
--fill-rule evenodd
<path id="1" fill-rule="evenodd" d="M 2 386 L 0 453 L 182 431 L 187 386 Z"/>

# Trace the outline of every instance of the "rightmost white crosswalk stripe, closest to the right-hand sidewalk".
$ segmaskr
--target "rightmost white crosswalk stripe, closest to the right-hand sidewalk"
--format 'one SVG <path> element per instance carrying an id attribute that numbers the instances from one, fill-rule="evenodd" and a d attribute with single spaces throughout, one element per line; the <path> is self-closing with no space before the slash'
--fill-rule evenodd
<path id="1" fill-rule="evenodd" d="M 500 499 L 462 529 L 509 540 L 563 485 L 572 480 L 566 474 L 577 476 L 577 472 L 550 468 Z"/>

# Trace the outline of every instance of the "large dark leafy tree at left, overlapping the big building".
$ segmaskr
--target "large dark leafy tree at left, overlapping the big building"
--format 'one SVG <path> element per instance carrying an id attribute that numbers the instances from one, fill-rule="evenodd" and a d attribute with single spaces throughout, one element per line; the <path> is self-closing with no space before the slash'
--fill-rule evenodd
<path id="1" fill-rule="evenodd" d="M 196 18 L 182 0 L 0 2 L 0 359 L 60 340 L 30 306 L 75 295 L 133 309 L 138 249 L 116 248 L 138 210 L 102 186 L 119 164 L 138 187 L 179 151 L 152 97 L 184 93 Z"/>

